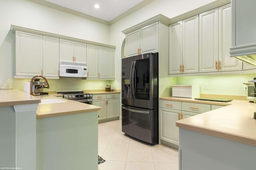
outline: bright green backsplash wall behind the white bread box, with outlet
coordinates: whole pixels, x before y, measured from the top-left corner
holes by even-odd
[[[244,82],[253,80],[256,73],[214,76],[182,76],[177,77],[177,84],[198,84],[202,94],[227,94],[246,96]],[[204,83],[208,83],[208,90],[204,90]]]

